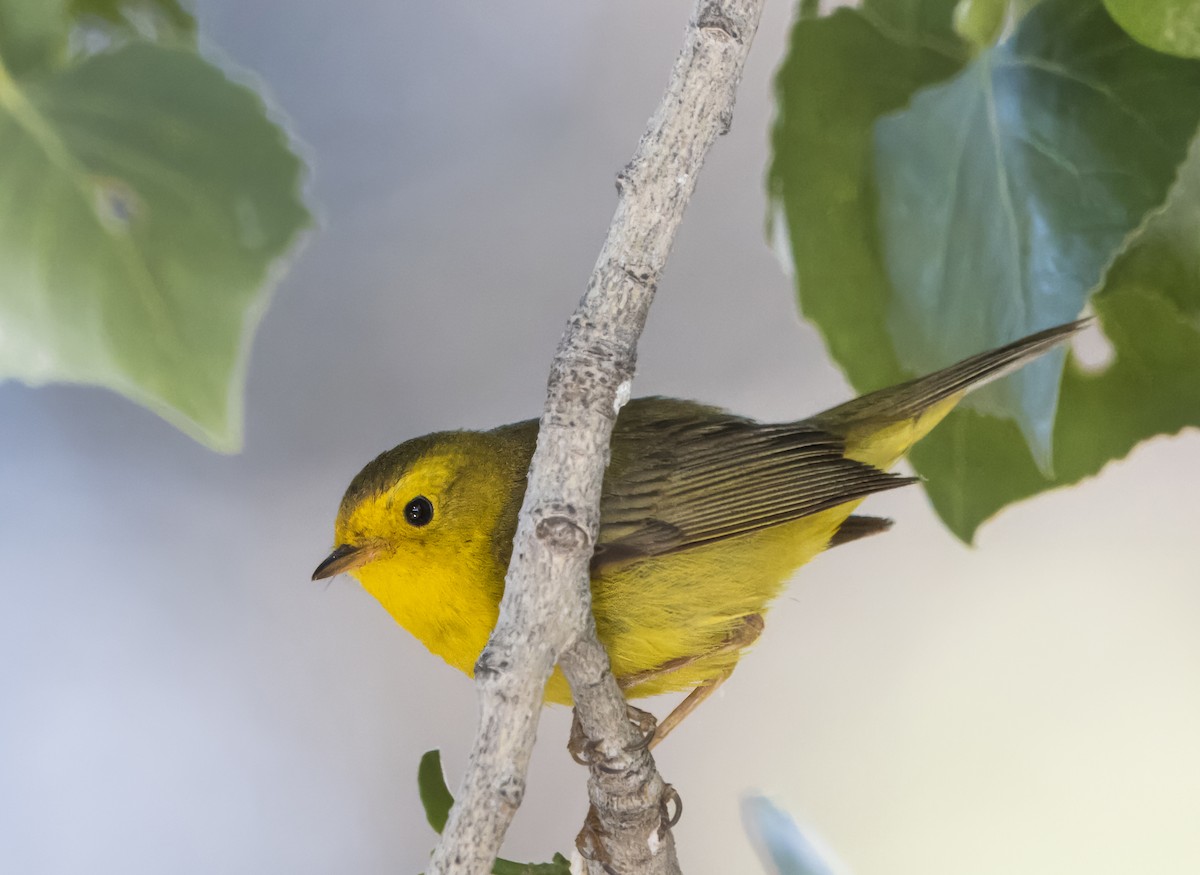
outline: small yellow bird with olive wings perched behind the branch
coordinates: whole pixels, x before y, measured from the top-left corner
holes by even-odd
[[[592,597],[630,697],[719,681],[797,568],[882,531],[851,517],[884,473],[976,385],[1069,337],[1032,335],[808,420],[763,425],[686,401],[638,398],[613,430]],[[442,432],[384,453],[342,499],[313,577],[353,574],[402,627],[468,675],[499,613],[536,422]],[[656,673],[655,670],[659,670]],[[632,681],[634,676],[641,677]],[[546,700],[569,703],[559,672]]]

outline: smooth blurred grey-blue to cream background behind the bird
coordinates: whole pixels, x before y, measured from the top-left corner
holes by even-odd
[[[312,583],[350,477],[536,415],[688,0],[197,0],[312,161],[316,232],[254,347],[246,449],[101,390],[0,386],[0,861],[13,873],[418,873],[470,682],[355,582]],[[848,389],[763,235],[768,6],[640,348],[638,394],[797,418]],[[215,49],[212,47],[220,47]],[[859,875],[1200,870],[1200,437],[1003,513],[922,492],[805,568],[659,756],[685,871],[761,868],[769,793]],[[650,702],[660,715],[673,701]],[[570,851],[584,772],[542,720],[505,856]]]

